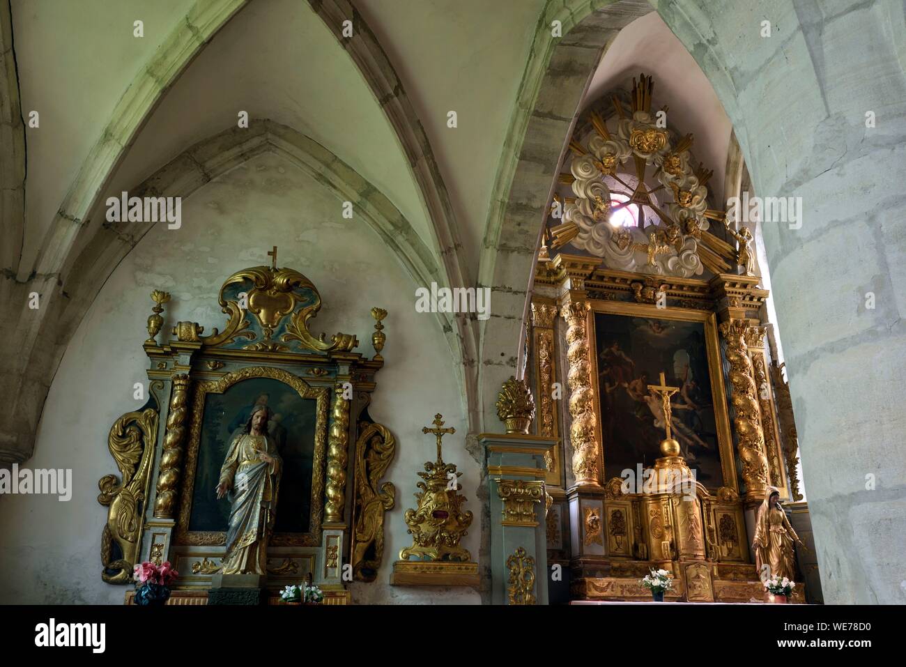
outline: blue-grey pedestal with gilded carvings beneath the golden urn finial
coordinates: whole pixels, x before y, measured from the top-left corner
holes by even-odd
[[[547,604],[545,452],[556,440],[485,433],[491,513],[491,601]]]

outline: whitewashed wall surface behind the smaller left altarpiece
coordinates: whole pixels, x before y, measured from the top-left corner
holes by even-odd
[[[425,603],[438,589],[390,586],[390,568],[410,545],[403,512],[414,507],[416,471],[433,459],[434,439],[421,433],[442,412],[455,436],[445,438],[444,458],[464,473],[463,493],[476,515],[464,545],[477,556],[480,511],[478,466],[463,447],[462,414],[448,343],[432,314],[415,312],[415,285],[381,240],[361,221],[341,216],[341,202],[287,161],[265,154],[215,179],[183,202],[182,227],[153,229],[101,289],[72,337],[38,429],[29,468],[71,468],[72,499],[0,497],[0,603],[121,604],[124,586],[101,581],[101,530],[107,508],[97,502],[98,479],[116,472],[107,434],[120,414],[143,401],[133,383],[146,382],[145,320],[152,289],[172,294],[158,339],[178,320],[210,332],[225,315],[217,291],[227,275],[267,264],[279,247],[279,266],[292,266],[317,285],[323,308],[315,333],[355,333],[359,351],[371,356],[371,306],[389,311],[384,321],[385,366],[371,417],[396,436],[388,478],[397,488],[390,511],[384,562],[373,584],[352,586],[361,603]],[[477,603],[471,589],[444,591],[444,602]]]

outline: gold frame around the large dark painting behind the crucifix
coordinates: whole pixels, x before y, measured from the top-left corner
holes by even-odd
[[[722,365],[720,362],[720,344],[718,342],[717,315],[708,311],[686,308],[658,308],[654,304],[632,304],[619,301],[600,301],[590,299],[591,308],[586,315],[586,331],[588,332],[589,363],[592,368],[592,389],[594,392],[595,438],[601,452],[601,471],[604,474],[603,458],[606,456],[607,443],[602,436],[601,393],[598,387],[598,355],[597,335],[595,331],[594,314],[616,314],[627,317],[646,317],[659,320],[676,320],[679,322],[700,322],[705,325],[705,349],[708,354],[708,377],[711,381],[711,398],[714,401],[714,416],[718,426],[718,452],[720,455],[720,469],[724,476],[723,487],[732,488],[737,493],[736,459],[733,453],[733,438],[730,434],[730,422],[727,409],[727,391],[724,386]],[[717,494],[720,487],[708,488],[712,494]]]

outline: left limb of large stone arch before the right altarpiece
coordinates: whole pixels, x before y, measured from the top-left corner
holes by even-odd
[[[549,2],[519,87],[516,110],[497,169],[479,285],[495,304],[481,331],[480,395],[485,428],[496,424],[500,385],[522,369],[532,266],[546,208],[576,113],[605,45],[624,26],[654,11],[647,0]],[[554,37],[554,22],[562,37]]]

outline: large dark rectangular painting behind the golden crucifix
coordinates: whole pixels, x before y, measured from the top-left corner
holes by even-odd
[[[680,454],[699,482],[722,486],[705,323],[595,313],[594,339],[605,478],[639,463],[648,468],[663,456],[664,411],[649,390],[661,384],[663,373],[667,385],[679,390],[670,399],[670,421]]]

